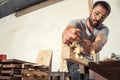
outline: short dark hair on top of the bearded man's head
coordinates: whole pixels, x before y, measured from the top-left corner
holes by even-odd
[[[93,5],[93,8],[95,8],[98,5],[103,6],[108,11],[108,15],[110,14],[111,7],[106,1],[97,1],[97,2],[95,2],[94,5]]]

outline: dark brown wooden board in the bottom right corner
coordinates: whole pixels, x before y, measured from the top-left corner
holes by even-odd
[[[89,68],[108,80],[120,80],[120,61],[89,62]]]

